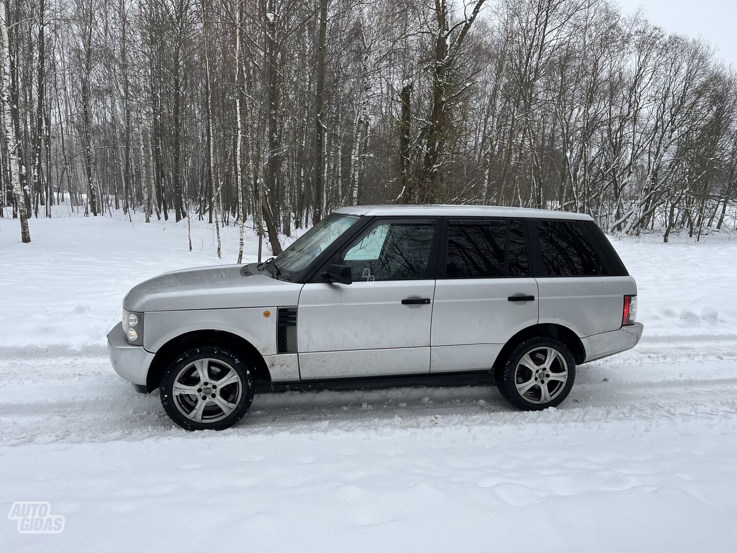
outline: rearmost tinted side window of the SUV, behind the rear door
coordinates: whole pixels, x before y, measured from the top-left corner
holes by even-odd
[[[607,274],[577,221],[539,220],[537,235],[547,277],[597,277]]]

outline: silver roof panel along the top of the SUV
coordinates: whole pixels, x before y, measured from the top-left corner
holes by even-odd
[[[447,204],[348,206],[335,209],[335,213],[346,215],[393,215],[393,216],[447,216],[447,217],[515,217],[534,219],[592,220],[584,213],[553,211],[552,209],[528,209],[506,206],[453,206]]]

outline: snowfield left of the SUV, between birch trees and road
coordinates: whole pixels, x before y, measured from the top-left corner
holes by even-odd
[[[191,252],[186,220],[146,224],[136,217],[130,223],[120,212],[116,218],[33,219],[30,225],[32,242],[24,245],[18,221],[0,219],[0,289],[14,291],[13,302],[0,304],[0,353],[105,352],[105,335],[120,319],[122,298],[138,282],[164,271],[237,260],[235,226],[222,229],[218,260],[214,226],[198,220],[192,221]],[[252,229],[244,242],[243,262],[256,261]],[[266,259],[268,240],[263,248]]]

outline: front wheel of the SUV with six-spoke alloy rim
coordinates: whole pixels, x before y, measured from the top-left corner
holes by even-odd
[[[223,430],[242,419],[254,400],[248,363],[214,346],[187,350],[161,376],[161,405],[186,430]]]

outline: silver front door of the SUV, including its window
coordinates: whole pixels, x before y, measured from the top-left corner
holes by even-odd
[[[298,305],[302,380],[430,371],[435,220],[380,219],[343,249],[350,285],[308,282]]]

